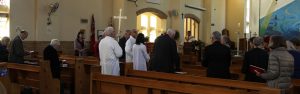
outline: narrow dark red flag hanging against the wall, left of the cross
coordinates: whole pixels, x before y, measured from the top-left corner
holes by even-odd
[[[94,14],[92,15],[92,20],[91,20],[91,36],[90,36],[90,49],[91,49],[91,54],[95,56],[97,48],[95,48],[96,40],[95,40],[95,19],[94,19]]]

